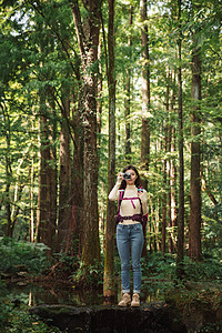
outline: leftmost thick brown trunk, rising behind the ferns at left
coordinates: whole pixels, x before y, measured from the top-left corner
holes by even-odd
[[[49,101],[51,102],[51,101]],[[53,141],[56,139],[56,121],[53,109],[48,108],[46,103],[46,91],[40,91],[40,111],[39,120],[39,193],[37,211],[37,236],[36,242],[40,241],[53,250],[57,221],[57,168],[56,149]],[[46,117],[51,117],[50,121]]]

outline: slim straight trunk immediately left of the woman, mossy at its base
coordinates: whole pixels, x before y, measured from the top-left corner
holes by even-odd
[[[115,181],[115,74],[114,74],[114,0],[109,0],[108,31],[108,87],[109,87],[109,164],[108,194]],[[114,255],[114,202],[108,200],[105,221],[104,283],[103,295],[114,295],[113,255]]]

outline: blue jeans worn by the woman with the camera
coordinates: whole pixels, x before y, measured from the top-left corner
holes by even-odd
[[[140,293],[141,268],[140,258],[143,246],[142,224],[118,224],[117,244],[121,261],[122,292],[130,292],[130,244],[133,271],[133,293]]]

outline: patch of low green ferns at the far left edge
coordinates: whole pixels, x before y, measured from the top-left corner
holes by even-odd
[[[49,265],[47,250],[48,248],[41,243],[30,244],[3,238],[0,240],[0,271],[14,273],[18,265],[23,265],[30,274],[38,274]]]

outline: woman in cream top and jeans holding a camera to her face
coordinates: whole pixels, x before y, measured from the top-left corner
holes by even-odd
[[[124,168],[109,194],[119,200],[117,244],[121,260],[122,297],[119,306],[140,306],[141,268],[143,246],[142,215],[148,213],[148,193],[139,188],[140,175],[133,165]],[[130,245],[133,270],[133,296],[130,297]]]

